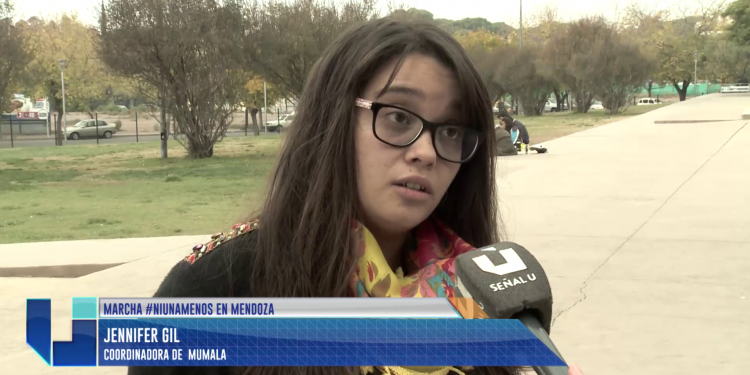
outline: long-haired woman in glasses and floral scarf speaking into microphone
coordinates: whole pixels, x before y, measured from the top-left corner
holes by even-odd
[[[381,19],[345,33],[314,66],[294,122],[261,214],[196,246],[156,297],[446,296],[453,257],[472,249],[468,244],[499,240],[490,100],[461,47],[441,29]],[[422,373],[409,371],[129,373]],[[424,373],[448,371],[517,373]]]

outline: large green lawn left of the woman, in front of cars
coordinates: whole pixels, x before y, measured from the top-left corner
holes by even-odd
[[[257,207],[281,138],[192,160],[170,142],[0,150],[0,243],[206,234]]]

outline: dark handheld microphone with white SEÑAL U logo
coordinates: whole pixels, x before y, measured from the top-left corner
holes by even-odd
[[[456,257],[459,297],[473,299],[490,319],[518,319],[560,359],[549,337],[552,288],[542,265],[521,245],[500,242]],[[568,375],[567,366],[533,366],[539,375]]]

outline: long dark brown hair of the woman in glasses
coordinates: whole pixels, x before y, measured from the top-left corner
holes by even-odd
[[[260,214],[254,297],[347,297],[354,272],[349,221],[361,219],[357,196],[354,100],[375,72],[410,53],[434,57],[459,82],[466,124],[486,134],[461,166],[434,215],[474,246],[500,237],[495,139],[490,98],[461,46],[429,23],[390,18],[358,25],[330,45],[312,69],[286,136]],[[391,79],[396,71],[392,73]],[[513,369],[476,369],[509,374]],[[246,374],[359,374],[358,368],[249,368]]]

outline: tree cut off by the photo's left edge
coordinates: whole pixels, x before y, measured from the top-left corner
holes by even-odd
[[[0,3],[0,114],[13,96],[13,89],[21,81],[21,73],[31,60],[31,52],[24,48],[26,36],[13,24],[13,5],[9,0]]]

